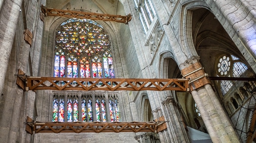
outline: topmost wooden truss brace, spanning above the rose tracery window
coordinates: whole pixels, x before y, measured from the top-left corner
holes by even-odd
[[[70,10],[46,8],[43,5],[41,5],[41,11],[45,16],[86,18],[86,19],[92,19],[92,20],[115,21],[115,22],[125,23],[125,24],[128,24],[128,22],[131,21],[131,19],[132,19],[131,14],[129,14],[127,16],[97,14],[97,13],[88,13],[88,12],[83,12],[83,11],[70,11]]]

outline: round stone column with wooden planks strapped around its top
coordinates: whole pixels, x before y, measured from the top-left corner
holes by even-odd
[[[213,143],[239,143],[231,121],[198,60],[198,57],[192,57],[181,64],[180,68],[183,77],[190,79],[191,94],[197,103],[208,133]]]

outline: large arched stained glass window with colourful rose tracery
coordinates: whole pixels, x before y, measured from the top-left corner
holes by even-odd
[[[103,57],[106,56],[111,58],[111,64],[107,63],[106,66],[111,68],[103,64]],[[54,77],[115,77],[108,34],[101,25],[90,19],[71,18],[59,26],[56,32]]]

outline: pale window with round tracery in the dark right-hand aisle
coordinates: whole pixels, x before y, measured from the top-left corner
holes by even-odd
[[[218,59],[217,77],[241,77],[248,67],[234,55],[223,55]],[[236,81],[220,80],[220,91],[226,95]]]

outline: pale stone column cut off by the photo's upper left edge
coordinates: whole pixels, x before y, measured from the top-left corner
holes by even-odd
[[[2,93],[5,74],[7,70],[6,63],[9,62],[14,35],[17,28],[18,17],[20,15],[20,5],[22,0],[5,0],[0,12],[0,94]]]

